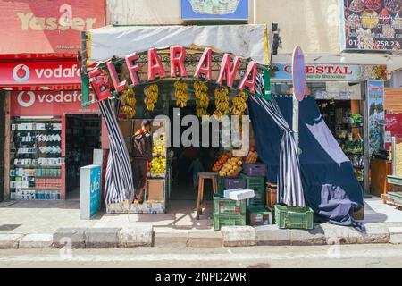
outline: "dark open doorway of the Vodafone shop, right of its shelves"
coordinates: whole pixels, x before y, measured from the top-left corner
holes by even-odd
[[[100,114],[66,114],[66,199],[80,198],[80,168],[93,164],[94,149],[101,147]]]

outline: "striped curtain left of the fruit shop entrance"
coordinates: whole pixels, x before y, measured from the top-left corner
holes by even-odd
[[[106,204],[122,203],[134,198],[130,156],[118,123],[121,101],[106,99],[98,102],[109,135],[109,157],[105,174]]]

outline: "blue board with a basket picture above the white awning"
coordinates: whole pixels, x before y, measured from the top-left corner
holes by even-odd
[[[180,0],[181,20],[248,21],[248,0]]]

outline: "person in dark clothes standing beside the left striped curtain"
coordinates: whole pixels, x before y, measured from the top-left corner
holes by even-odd
[[[132,174],[135,189],[134,200],[144,201],[147,185],[147,172],[152,161],[151,122],[144,120],[142,126],[132,137]]]

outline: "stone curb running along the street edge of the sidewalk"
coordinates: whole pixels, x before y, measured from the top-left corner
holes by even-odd
[[[366,223],[366,233],[330,223],[313,230],[279,229],[277,225],[222,227],[221,231],[154,231],[128,228],[59,228],[54,233],[0,234],[0,249],[16,248],[221,248],[402,243],[402,223]]]

